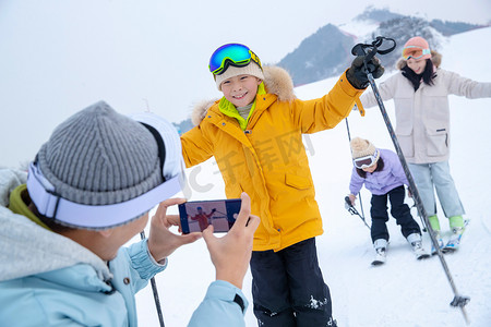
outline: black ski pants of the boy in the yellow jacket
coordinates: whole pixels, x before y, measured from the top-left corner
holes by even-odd
[[[259,326],[336,326],[314,238],[278,252],[253,251],[251,272]]]

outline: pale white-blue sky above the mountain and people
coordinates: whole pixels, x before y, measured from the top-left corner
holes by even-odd
[[[23,132],[29,155],[67,117],[104,99],[179,122],[220,96],[207,71],[225,43],[275,63],[327,23],[374,1],[0,0],[0,137]],[[431,3],[431,5],[430,5]],[[490,0],[382,0],[378,8],[428,19],[491,22]],[[0,144],[0,165],[8,148]],[[15,161],[16,162],[16,161]]]

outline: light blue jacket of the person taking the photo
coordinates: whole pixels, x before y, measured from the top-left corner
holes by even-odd
[[[106,264],[7,208],[22,183],[25,173],[0,169],[0,325],[136,326],[134,294],[165,269],[148,254],[147,242],[120,249]],[[213,282],[189,326],[244,326],[236,294],[247,307],[238,288]]]

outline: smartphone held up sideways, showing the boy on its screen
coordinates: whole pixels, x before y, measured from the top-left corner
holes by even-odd
[[[240,211],[240,198],[190,201],[179,205],[182,233],[200,232],[213,225],[215,232],[228,232]]]

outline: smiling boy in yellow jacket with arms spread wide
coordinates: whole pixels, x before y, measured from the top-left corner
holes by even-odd
[[[227,44],[211,57],[224,97],[194,109],[182,154],[187,167],[214,156],[227,197],[247,192],[261,217],[251,259],[260,326],[336,326],[318,263],[322,218],[302,134],[333,129],[349,114],[368,86],[362,61],[355,59],[328,94],[302,101],[288,73],[263,68],[247,46]],[[372,61],[380,77],[383,66]]]

